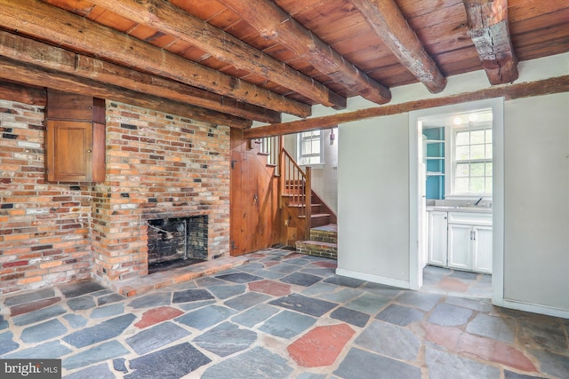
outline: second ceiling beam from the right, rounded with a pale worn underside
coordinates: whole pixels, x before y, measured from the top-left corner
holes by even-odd
[[[431,93],[439,93],[446,86],[445,75],[425,51],[421,40],[409,26],[405,16],[393,0],[351,0],[359,12],[401,64]]]

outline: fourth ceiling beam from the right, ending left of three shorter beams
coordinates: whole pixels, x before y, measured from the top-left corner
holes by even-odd
[[[164,0],[91,0],[91,3],[125,19],[180,38],[212,54],[215,59],[298,92],[317,104],[336,109],[346,107],[346,98],[324,84]]]

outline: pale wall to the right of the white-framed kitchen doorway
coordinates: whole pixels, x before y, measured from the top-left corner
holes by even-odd
[[[504,107],[504,299],[569,311],[569,93]]]

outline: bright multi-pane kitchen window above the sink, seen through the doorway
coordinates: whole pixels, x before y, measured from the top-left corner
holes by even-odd
[[[492,194],[492,126],[453,129],[453,195]]]

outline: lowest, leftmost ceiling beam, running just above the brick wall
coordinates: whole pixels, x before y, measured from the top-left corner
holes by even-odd
[[[194,107],[170,99],[158,98],[141,92],[125,90],[107,83],[98,83],[75,75],[45,70],[20,61],[0,57],[0,79],[18,78],[18,82],[32,86],[43,85],[55,90],[78,93],[100,99],[120,101],[136,107],[153,109],[166,114],[176,114],[194,120],[244,129],[252,125],[250,120],[222,114],[203,107]]]

